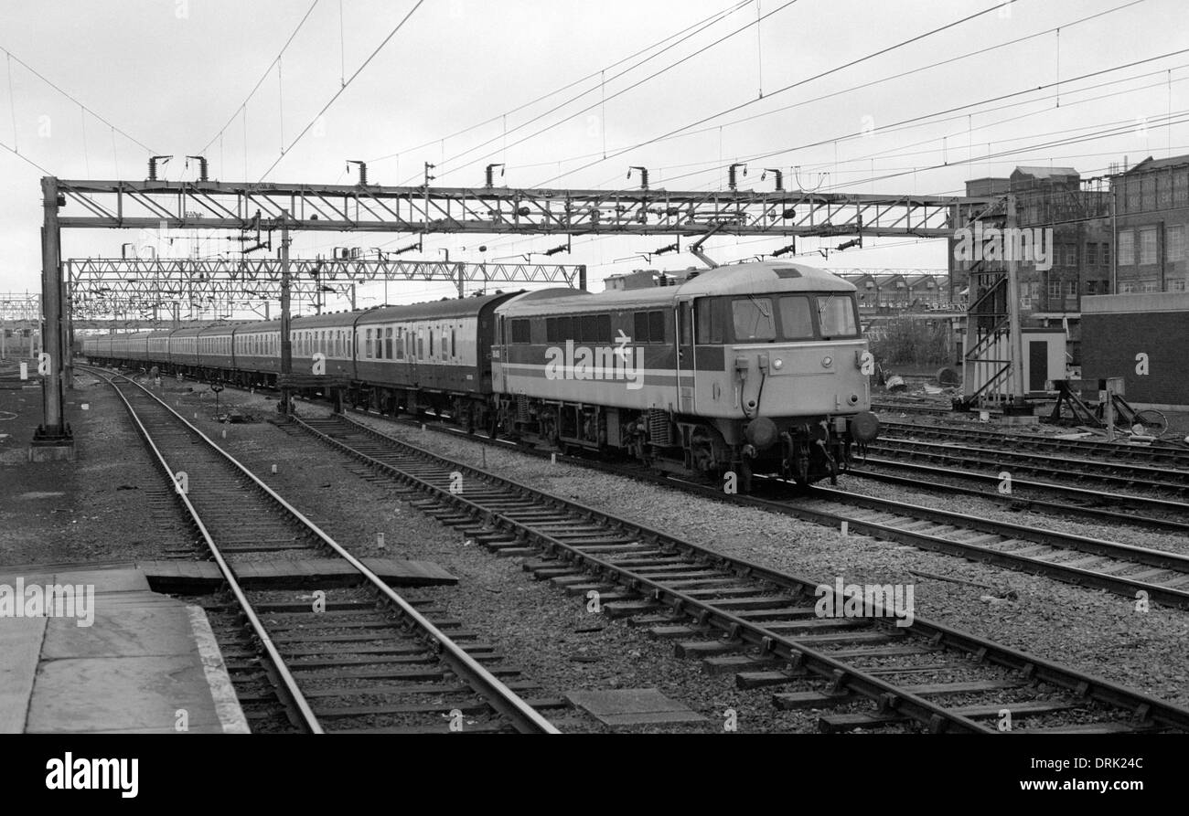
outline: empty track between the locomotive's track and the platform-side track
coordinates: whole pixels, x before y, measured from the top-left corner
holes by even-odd
[[[524,556],[537,578],[610,615],[652,626],[707,670],[774,688],[782,708],[838,711],[822,717],[825,730],[898,723],[989,733],[1005,721],[1024,732],[1189,730],[1189,710],[916,615],[892,620],[894,602],[889,611],[872,597],[860,614],[823,614],[814,599],[843,608],[831,583],[723,556],[344,416],[295,422],[423,493],[417,506],[441,523]]]

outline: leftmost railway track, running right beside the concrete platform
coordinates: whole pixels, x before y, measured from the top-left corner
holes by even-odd
[[[457,621],[394,592],[150,391],[122,375],[95,375],[124,401],[222,573],[231,603],[214,609],[213,622],[250,631],[252,647],[228,652],[250,719],[279,701],[308,733],[445,732],[443,717],[460,715],[465,730],[556,733],[536,708],[564,701],[527,702],[509,683],[531,683],[501,668],[492,646],[473,633],[447,634]],[[358,582],[328,587],[321,597],[245,588],[243,575],[260,561],[312,555],[346,562]]]

